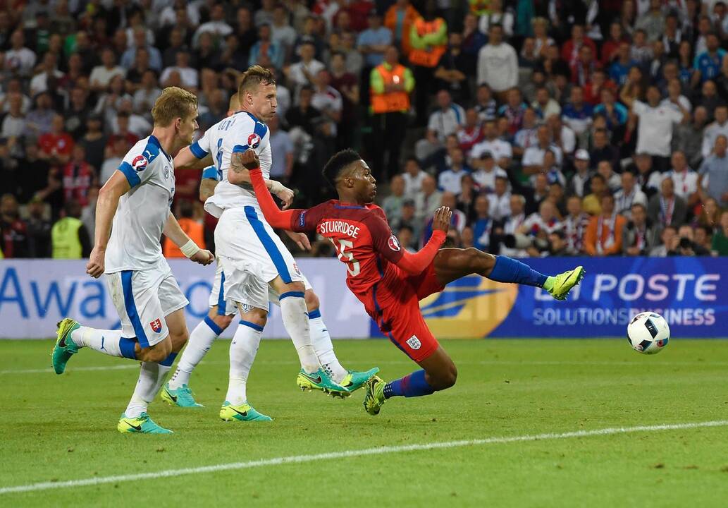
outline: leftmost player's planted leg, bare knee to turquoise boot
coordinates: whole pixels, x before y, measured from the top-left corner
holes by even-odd
[[[142,351],[142,356],[146,356],[146,361],[141,364],[139,380],[134,387],[132,398],[116,425],[116,429],[124,434],[172,433],[169,429],[154,423],[147,414],[149,404],[165,383],[165,378],[167,378],[167,374],[172,368],[177,353],[181,351],[189,337],[182,309],[175,310],[165,316],[165,321],[167,329],[169,329],[169,335],[161,343],[151,348],[145,348]]]

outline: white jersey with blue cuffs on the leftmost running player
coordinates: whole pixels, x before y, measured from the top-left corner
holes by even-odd
[[[119,198],[106,246],[106,273],[150,270],[165,264],[162,230],[175,195],[172,157],[149,136],[137,141],[119,165],[131,189]]]

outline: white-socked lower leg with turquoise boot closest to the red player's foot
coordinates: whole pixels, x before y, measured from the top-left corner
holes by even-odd
[[[331,376],[331,379],[347,388],[346,391],[331,390],[331,396],[341,399],[351,396],[352,392],[364,386],[368,380],[379,372],[379,367],[373,367],[373,369],[365,372],[345,369],[333,351],[331,335],[329,335],[321,317],[320,303],[316,293],[312,289],[307,289],[304,299],[306,300],[306,309],[309,311],[309,329],[316,356],[321,366]]]

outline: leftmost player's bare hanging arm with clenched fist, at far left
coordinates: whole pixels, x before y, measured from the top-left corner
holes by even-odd
[[[108,236],[111,234],[111,222],[114,220],[116,207],[119,206],[119,198],[129,192],[129,189],[131,189],[131,184],[128,177],[117,169],[98,191],[94,246],[86,265],[86,273],[93,278],[99,278],[103,273],[106,244]]]

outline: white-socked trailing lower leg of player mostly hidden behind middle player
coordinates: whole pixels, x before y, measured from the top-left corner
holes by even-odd
[[[205,319],[192,330],[187,346],[177,363],[177,369],[162,389],[162,399],[168,404],[178,407],[204,407],[194,399],[189,387],[189,378],[197,364],[205,358],[207,351],[210,351],[215,339],[229,327],[232,319],[232,315],[218,314],[218,306],[214,305]]]

